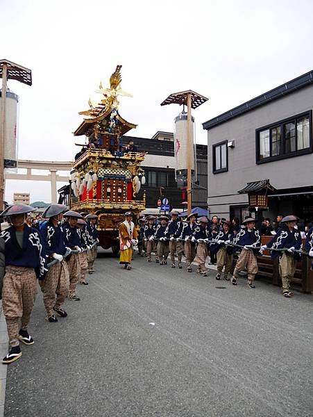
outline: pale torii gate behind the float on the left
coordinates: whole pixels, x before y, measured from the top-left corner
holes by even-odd
[[[24,179],[31,181],[50,181],[51,183],[51,203],[57,202],[56,183],[69,182],[69,177],[58,175],[58,171],[70,171],[73,167],[71,161],[28,161],[20,159],[17,163],[18,168],[26,169],[26,174],[6,173],[6,179]],[[49,175],[32,174],[31,170],[48,170]]]

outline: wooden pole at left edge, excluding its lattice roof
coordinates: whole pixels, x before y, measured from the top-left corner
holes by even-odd
[[[6,136],[6,81],[8,66],[2,67],[1,117],[0,117],[0,211],[3,211],[4,199],[4,138]]]

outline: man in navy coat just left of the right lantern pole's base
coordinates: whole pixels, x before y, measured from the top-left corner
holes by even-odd
[[[178,218],[178,211],[171,211],[171,220],[167,224],[166,236],[169,238],[169,254],[171,256],[171,268],[176,268],[175,254],[178,258],[178,268],[182,269],[182,256],[184,252],[183,243],[176,240],[180,237],[183,231],[183,222]]]

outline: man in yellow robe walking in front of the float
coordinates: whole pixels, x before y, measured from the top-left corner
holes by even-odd
[[[119,226],[119,263],[124,265],[125,270],[131,270],[131,259],[133,256],[133,245],[137,245],[137,230],[132,222],[133,213],[126,211],[125,221]]]

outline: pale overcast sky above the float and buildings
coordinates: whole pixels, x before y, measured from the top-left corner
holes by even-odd
[[[0,15],[0,59],[33,72],[31,87],[8,83],[21,159],[73,159],[78,111],[117,64],[129,135],[173,131],[181,108],[160,103],[191,89],[209,97],[194,112],[198,143],[206,120],[313,68],[312,0],[0,0]],[[14,191],[51,199],[49,183],[7,181],[8,202]]]

